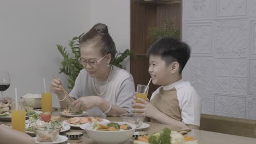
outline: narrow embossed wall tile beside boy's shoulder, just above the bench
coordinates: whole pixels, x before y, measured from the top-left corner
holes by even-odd
[[[214,105],[215,105],[214,95],[200,94],[200,96],[201,96],[201,103],[202,103],[201,112],[214,115]]]

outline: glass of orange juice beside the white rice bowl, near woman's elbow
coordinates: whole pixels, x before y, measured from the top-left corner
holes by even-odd
[[[52,110],[53,110],[53,93],[49,91],[49,88],[46,88],[45,85],[43,85],[42,86],[42,111],[51,112]]]

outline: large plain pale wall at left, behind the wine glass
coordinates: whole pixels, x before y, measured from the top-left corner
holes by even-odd
[[[59,75],[62,56],[56,44],[66,45],[68,40],[87,31],[88,1],[68,0],[2,0],[0,3],[0,69],[9,71],[11,85],[5,96],[40,93],[43,77],[50,83]],[[54,98],[54,105],[59,103]]]

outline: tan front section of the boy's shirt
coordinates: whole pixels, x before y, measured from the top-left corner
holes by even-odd
[[[167,91],[161,87],[159,93],[150,100],[150,104],[153,104],[156,109],[165,113],[167,116],[177,121],[182,121],[181,109],[179,109],[179,101],[175,87]],[[159,123],[153,118],[150,118],[150,122]]]

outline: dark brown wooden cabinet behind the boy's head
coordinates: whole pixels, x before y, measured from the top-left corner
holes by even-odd
[[[182,2],[177,0],[131,0],[131,74],[137,84],[147,85],[150,79],[148,73],[148,48],[156,39],[149,36],[149,27],[161,26],[165,19],[175,18],[176,26],[182,31]],[[181,32],[182,33],[182,32]],[[148,98],[159,86],[152,83],[149,86]]]

